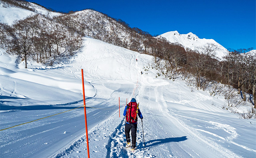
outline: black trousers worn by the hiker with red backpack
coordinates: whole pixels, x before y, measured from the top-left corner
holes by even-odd
[[[137,135],[137,124],[125,124],[125,136],[126,142],[131,142],[130,140],[130,131],[132,130],[132,147],[136,147],[136,135]]]

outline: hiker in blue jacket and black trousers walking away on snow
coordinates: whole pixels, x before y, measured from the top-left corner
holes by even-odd
[[[131,102],[128,103],[124,109],[124,117],[126,118],[125,124],[125,136],[126,136],[126,148],[131,147],[132,151],[136,148],[136,133],[137,133],[137,120],[138,116],[143,119],[142,113],[136,103],[136,99],[132,98]],[[130,140],[130,130],[132,130],[132,145]]]

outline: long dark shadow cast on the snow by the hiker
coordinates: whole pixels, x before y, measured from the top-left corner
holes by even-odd
[[[164,144],[168,142],[181,142],[187,139],[188,139],[187,136],[176,137],[176,138],[155,139],[155,140],[149,140],[145,144],[146,144],[146,147],[153,147],[159,144]]]

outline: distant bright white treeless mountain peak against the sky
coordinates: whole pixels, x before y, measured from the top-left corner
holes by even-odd
[[[185,48],[187,47],[192,50],[198,50],[198,48],[206,46],[207,43],[214,44],[216,46],[216,57],[220,58],[221,60],[228,52],[226,48],[214,41],[214,39],[200,39],[192,32],[188,34],[179,34],[178,31],[170,31],[160,36],[166,38],[172,43],[179,43]]]

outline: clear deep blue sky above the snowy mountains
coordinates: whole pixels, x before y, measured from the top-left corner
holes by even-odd
[[[255,0],[28,0],[56,11],[93,8],[151,35],[192,32],[226,48],[256,49]]]

